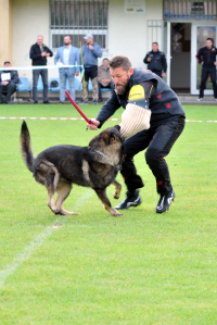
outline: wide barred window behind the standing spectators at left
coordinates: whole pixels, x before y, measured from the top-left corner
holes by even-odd
[[[107,50],[108,0],[50,0],[50,47],[56,50],[63,46],[65,35],[72,37],[72,45],[79,48],[84,36],[93,35],[102,50]]]

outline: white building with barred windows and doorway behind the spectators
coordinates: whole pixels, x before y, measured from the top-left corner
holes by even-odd
[[[217,1],[196,1],[0,0],[0,65],[11,60],[13,66],[30,66],[29,49],[38,35],[55,53],[64,35],[69,34],[79,47],[90,32],[103,57],[125,54],[133,67],[145,68],[143,59],[152,41],[157,41],[167,58],[167,84],[197,95],[201,66],[195,54],[207,37],[217,41]],[[48,61],[53,65],[53,58]],[[20,76],[31,82],[30,71],[21,71]],[[50,70],[52,76],[58,71]]]

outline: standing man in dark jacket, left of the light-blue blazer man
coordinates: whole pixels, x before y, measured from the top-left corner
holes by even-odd
[[[47,65],[47,58],[53,57],[53,52],[43,45],[43,36],[39,35],[37,42],[30,48],[31,65]],[[34,103],[38,103],[37,84],[39,75],[42,77],[43,83],[43,103],[48,104],[48,68],[33,70],[33,98]]]

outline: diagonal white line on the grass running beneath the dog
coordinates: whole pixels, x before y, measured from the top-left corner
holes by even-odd
[[[80,209],[85,205],[85,203],[92,196],[93,190],[87,188],[82,197],[77,200],[73,207],[73,211]],[[75,212],[75,211],[74,211]],[[20,252],[13,260],[13,262],[5,265],[3,270],[0,271],[0,288],[4,285],[7,278],[12,275],[26,260],[30,258],[30,255],[40,248],[43,242],[58,229],[61,228],[62,225],[67,223],[69,215],[61,215],[59,216],[53,225],[46,227],[39,235],[37,235],[28,246],[24,248],[22,252]]]

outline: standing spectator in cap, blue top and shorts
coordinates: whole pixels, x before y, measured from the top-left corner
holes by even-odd
[[[88,103],[88,80],[92,80],[92,103],[98,103],[98,58],[102,57],[101,47],[93,41],[92,34],[87,34],[85,45],[81,47],[84,67],[85,67],[85,87],[82,89],[82,101],[80,104]]]

